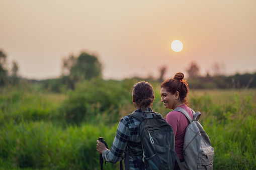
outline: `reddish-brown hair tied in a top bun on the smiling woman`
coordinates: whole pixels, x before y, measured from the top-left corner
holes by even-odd
[[[189,93],[189,86],[186,80],[184,79],[183,73],[176,73],[174,78],[167,79],[162,82],[160,88],[165,88],[167,92],[175,94],[176,91],[179,92],[180,101],[188,104],[187,95]]]

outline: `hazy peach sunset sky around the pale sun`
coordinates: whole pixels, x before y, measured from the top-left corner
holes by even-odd
[[[225,74],[256,72],[256,1],[0,0],[0,50],[26,78],[61,75],[62,59],[97,54],[106,79],[165,78],[196,62]],[[183,43],[181,52],[170,44]]]

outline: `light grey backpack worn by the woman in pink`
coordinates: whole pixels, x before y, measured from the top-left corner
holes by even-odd
[[[195,113],[193,109],[193,119],[182,107],[177,107],[173,111],[182,112],[190,121],[184,139],[183,154],[185,161],[180,162],[178,156],[176,160],[181,169],[213,169],[214,148],[202,125],[198,122],[200,112]]]

